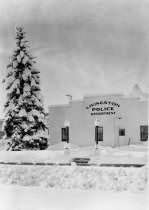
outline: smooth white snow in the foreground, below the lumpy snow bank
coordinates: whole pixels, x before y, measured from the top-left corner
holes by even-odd
[[[147,194],[0,185],[0,209],[147,210]]]

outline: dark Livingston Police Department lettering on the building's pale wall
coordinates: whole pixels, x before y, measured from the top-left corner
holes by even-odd
[[[116,113],[116,108],[120,105],[113,101],[99,101],[86,106],[86,109],[91,110],[91,115],[113,115]]]

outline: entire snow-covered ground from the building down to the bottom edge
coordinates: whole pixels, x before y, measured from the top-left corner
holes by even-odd
[[[2,144],[4,145],[4,144]],[[147,210],[148,146],[119,148],[71,147],[64,144],[46,151],[8,152],[1,147],[0,161],[70,163],[74,157],[89,157],[92,163],[140,163],[141,168],[101,166],[0,165],[0,209],[11,210]]]

